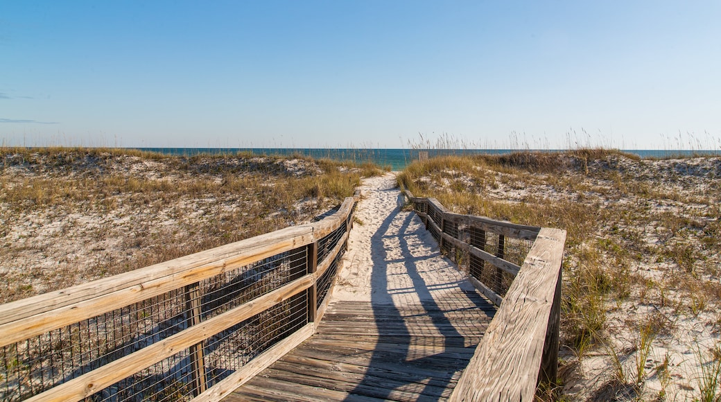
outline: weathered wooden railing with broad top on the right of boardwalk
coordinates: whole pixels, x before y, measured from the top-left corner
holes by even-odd
[[[451,401],[531,401],[557,377],[566,231],[451,213],[404,190],[441,246],[499,306]]]

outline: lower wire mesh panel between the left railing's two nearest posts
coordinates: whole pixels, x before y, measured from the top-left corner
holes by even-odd
[[[203,342],[208,386],[228,377],[308,322],[308,292],[301,292],[211,336]]]

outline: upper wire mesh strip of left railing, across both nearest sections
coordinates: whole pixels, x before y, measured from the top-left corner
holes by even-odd
[[[19,401],[306,274],[307,247],[0,348],[0,401]],[[195,306],[195,310],[193,310]]]

